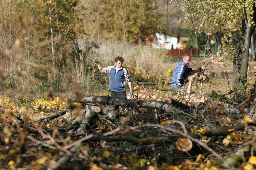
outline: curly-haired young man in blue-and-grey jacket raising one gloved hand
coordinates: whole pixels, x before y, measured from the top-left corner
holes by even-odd
[[[115,58],[114,61],[114,66],[108,66],[103,68],[99,63],[99,60],[94,60],[100,72],[109,74],[108,90],[111,92],[111,97],[126,99],[126,82],[130,88],[129,95],[133,95],[131,78],[127,69],[123,67],[123,57],[118,56]],[[118,109],[118,107],[116,109]]]

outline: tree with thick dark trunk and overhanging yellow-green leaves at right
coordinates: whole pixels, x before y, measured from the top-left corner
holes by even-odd
[[[222,47],[220,54],[231,54],[233,58],[233,89],[246,90],[248,52],[251,36],[255,30],[255,1],[254,0],[184,0],[180,7],[187,10],[187,19],[197,21],[199,31],[212,23],[212,30],[223,29]],[[230,40],[232,32],[239,28],[236,22],[242,21],[242,35],[237,44]],[[211,31],[209,31],[211,32]]]

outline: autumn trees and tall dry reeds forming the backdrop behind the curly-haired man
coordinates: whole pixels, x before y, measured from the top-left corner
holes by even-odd
[[[123,56],[134,81],[171,76],[167,51],[147,46],[144,35],[190,37],[190,48],[204,44],[206,36],[194,34],[191,25],[181,25],[177,18],[184,12],[167,4],[155,0],[3,0],[2,94],[105,91],[108,78],[93,65],[96,56],[103,66]],[[139,46],[133,46],[134,42]]]

